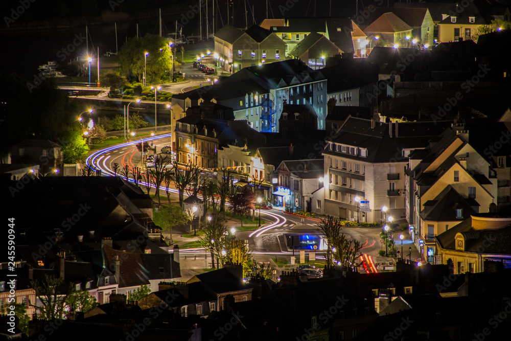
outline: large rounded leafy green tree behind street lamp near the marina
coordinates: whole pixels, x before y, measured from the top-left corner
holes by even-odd
[[[147,62],[145,53],[147,55]],[[165,78],[165,71],[171,68],[172,53],[165,37],[146,34],[144,37],[128,39],[119,52],[121,73],[128,79],[157,83]]]

